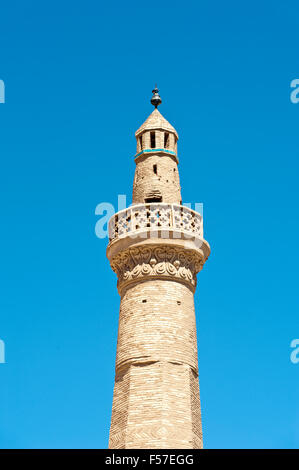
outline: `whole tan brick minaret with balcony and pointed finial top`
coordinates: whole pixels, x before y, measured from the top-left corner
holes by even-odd
[[[158,111],[137,130],[133,204],[109,221],[121,297],[109,448],[202,448],[194,293],[210,248],[182,206],[176,130]]]

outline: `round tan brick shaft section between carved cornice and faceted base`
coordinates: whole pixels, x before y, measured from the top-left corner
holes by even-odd
[[[155,280],[128,289],[121,299],[116,367],[169,361],[197,370],[193,294],[185,285]]]

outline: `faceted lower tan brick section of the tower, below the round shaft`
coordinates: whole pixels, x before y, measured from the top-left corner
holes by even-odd
[[[125,368],[116,376],[109,447],[202,448],[199,396],[196,407],[190,403],[194,380],[198,389],[185,364],[159,361]]]

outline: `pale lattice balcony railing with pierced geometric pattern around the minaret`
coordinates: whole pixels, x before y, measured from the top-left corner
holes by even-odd
[[[202,215],[178,204],[137,204],[111,217],[108,224],[110,242],[128,236],[157,232],[184,234],[187,237],[203,238]]]

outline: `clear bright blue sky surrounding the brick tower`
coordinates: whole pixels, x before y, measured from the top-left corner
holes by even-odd
[[[107,447],[119,296],[97,204],[134,132],[179,136],[212,253],[196,293],[206,448],[298,448],[295,0],[1,3],[1,448]]]

